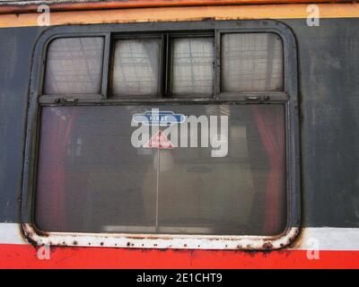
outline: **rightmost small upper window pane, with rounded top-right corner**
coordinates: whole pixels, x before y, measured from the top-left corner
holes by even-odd
[[[224,34],[222,91],[282,91],[283,44],[274,33]]]

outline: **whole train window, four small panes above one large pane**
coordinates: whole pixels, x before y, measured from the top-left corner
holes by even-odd
[[[36,230],[224,239],[292,226],[278,34],[95,35],[47,46],[31,150]]]

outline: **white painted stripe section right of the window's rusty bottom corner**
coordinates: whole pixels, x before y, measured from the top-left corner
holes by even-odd
[[[304,228],[300,241],[301,245],[293,249],[359,251],[359,228]]]

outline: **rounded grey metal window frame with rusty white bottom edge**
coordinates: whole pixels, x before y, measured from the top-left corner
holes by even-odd
[[[276,236],[215,236],[215,235],[169,235],[169,234],[129,234],[129,233],[74,233],[74,232],[45,232],[37,229],[34,222],[34,199],[37,178],[37,160],[39,143],[39,116],[41,106],[61,105],[126,105],[151,103],[223,103],[248,104],[248,93],[238,93],[236,97],[227,99],[221,93],[214,98],[205,99],[140,99],[121,100],[108,99],[103,91],[108,83],[107,75],[102,77],[106,81],[102,85],[102,94],[95,97],[88,96],[74,102],[56,102],[54,98],[46,100],[41,94],[43,65],[46,59],[46,48],[51,39],[58,37],[76,37],[85,35],[91,37],[102,35],[109,43],[109,33],[142,33],[173,30],[209,30],[216,33],[221,31],[236,32],[275,32],[284,43],[285,91],[250,93],[257,94],[259,104],[283,104],[285,106],[286,126],[286,186],[287,186],[287,225],[283,233]],[[118,248],[204,248],[204,249],[246,249],[270,250],[285,248],[290,245],[300,231],[301,224],[301,196],[300,196],[300,148],[299,148],[299,107],[297,85],[296,42],[292,31],[276,21],[219,21],[219,22],[158,22],[156,24],[103,24],[91,26],[63,26],[45,30],[37,40],[31,67],[31,87],[29,94],[29,110],[26,131],[26,146],[24,157],[24,172],[22,178],[22,211],[21,222],[24,236],[34,245],[56,246],[95,246]],[[109,62],[109,48],[104,58]],[[104,67],[103,73],[108,71]],[[219,69],[217,72],[217,76]],[[263,100],[263,95],[270,95],[270,100]]]

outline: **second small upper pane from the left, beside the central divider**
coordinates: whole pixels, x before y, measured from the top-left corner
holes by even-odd
[[[116,96],[159,93],[160,39],[116,41],[112,89]]]

